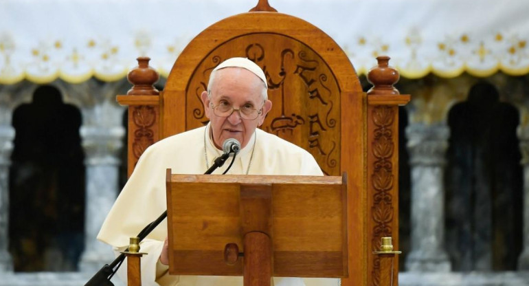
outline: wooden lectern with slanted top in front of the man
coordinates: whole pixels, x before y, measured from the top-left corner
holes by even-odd
[[[347,178],[172,175],[169,273],[347,277]],[[238,259],[238,256],[242,256]]]

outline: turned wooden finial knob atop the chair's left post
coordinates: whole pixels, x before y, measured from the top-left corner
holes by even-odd
[[[128,72],[127,79],[133,87],[127,91],[129,96],[156,96],[160,94],[154,84],[160,78],[158,72],[149,66],[150,58],[141,56],[137,58],[138,65]]]

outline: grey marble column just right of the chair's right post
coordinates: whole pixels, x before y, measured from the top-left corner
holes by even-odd
[[[412,251],[406,269],[449,272],[444,249],[444,163],[449,127],[412,124],[406,129],[412,173]]]

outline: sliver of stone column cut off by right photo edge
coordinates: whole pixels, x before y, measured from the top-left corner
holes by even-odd
[[[518,127],[521,165],[524,166],[524,232],[522,245],[524,249],[518,257],[518,270],[529,270],[529,126]]]

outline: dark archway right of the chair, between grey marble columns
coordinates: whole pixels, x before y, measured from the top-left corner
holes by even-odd
[[[449,112],[447,249],[455,271],[515,270],[521,252],[519,113],[477,83]]]

